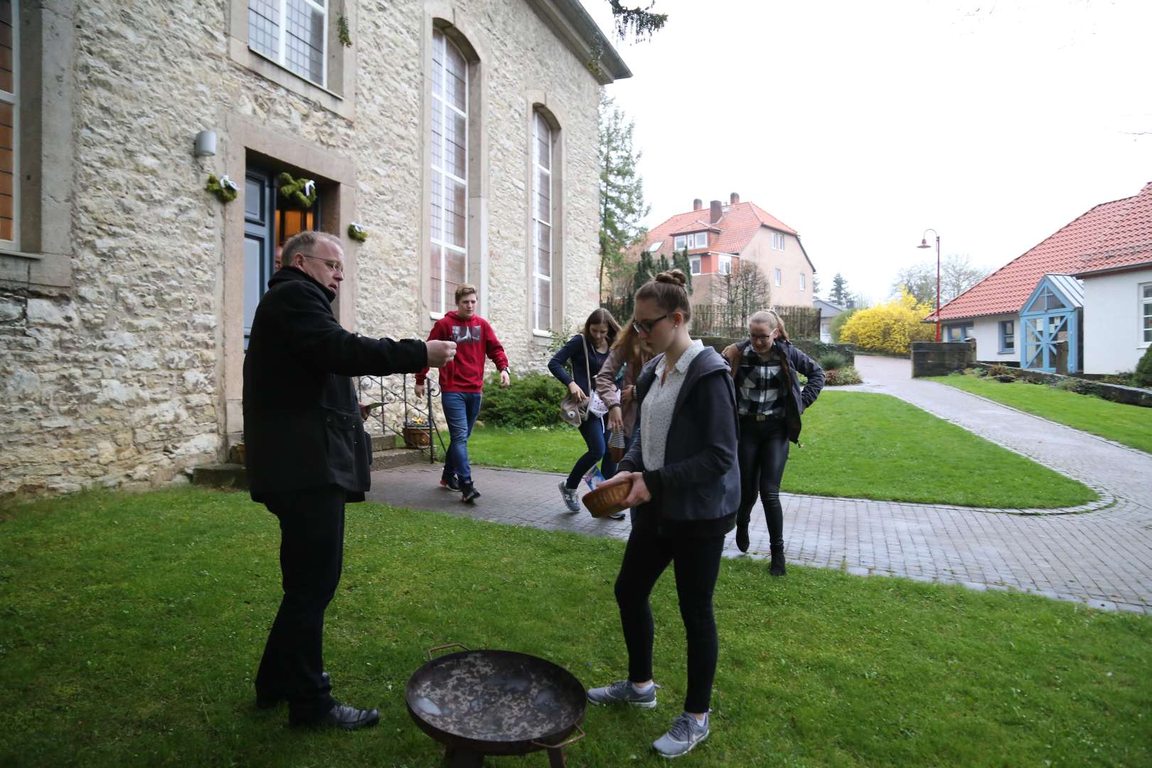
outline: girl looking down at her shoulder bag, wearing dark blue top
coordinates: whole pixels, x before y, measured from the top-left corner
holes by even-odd
[[[579,511],[579,500],[576,491],[579,488],[581,478],[584,473],[601,463],[604,477],[611,477],[616,472],[616,463],[611,456],[605,456],[611,435],[608,434],[608,423],[605,419],[607,406],[600,396],[597,395],[593,379],[608,359],[608,350],[620,333],[620,325],[615,318],[604,309],[596,310],[588,315],[584,321],[584,330],[573,336],[567,344],[548,360],[548,371],[560,383],[568,387],[569,397],[566,402],[575,400],[577,404],[586,403],[586,412],[583,423],[579,425],[581,436],[588,450],[573,465],[567,480],[560,481],[560,496],[563,499],[568,511]],[[570,365],[571,374],[564,368]],[[602,459],[602,462],[601,462]],[[622,515],[620,517],[623,517]]]

